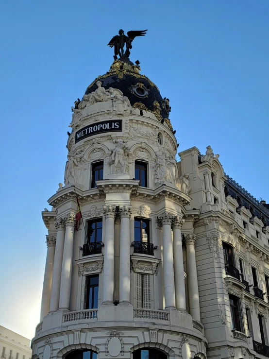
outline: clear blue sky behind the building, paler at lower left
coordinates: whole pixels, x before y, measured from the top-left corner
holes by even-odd
[[[70,106],[108,71],[125,30],[131,60],[170,99],[180,144],[211,145],[224,171],[269,202],[269,0],[0,2],[0,325],[31,338],[46,258],[41,210],[63,182]]]

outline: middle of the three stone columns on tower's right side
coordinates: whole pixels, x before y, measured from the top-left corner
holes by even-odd
[[[185,299],[185,277],[182,251],[181,228],[184,220],[175,216],[173,222],[173,252],[174,252],[174,275],[176,307],[179,310],[186,310]]]

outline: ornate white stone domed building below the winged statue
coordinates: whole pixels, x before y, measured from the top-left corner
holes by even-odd
[[[210,146],[176,162],[169,100],[139,71],[115,60],[72,109],[34,359],[269,357],[268,205]]]

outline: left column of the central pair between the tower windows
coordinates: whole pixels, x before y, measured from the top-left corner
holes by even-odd
[[[114,230],[116,207],[114,205],[106,205],[103,208],[105,216],[105,242],[102,304],[112,304],[114,299]]]

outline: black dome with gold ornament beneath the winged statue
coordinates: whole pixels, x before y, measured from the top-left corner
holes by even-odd
[[[105,89],[113,87],[122,91],[123,95],[128,97],[132,106],[134,103],[142,103],[149,111],[154,111],[156,110],[157,102],[161,117],[168,119],[169,109],[166,104],[167,102],[163,100],[158,87],[145,75],[140,75],[133,71],[107,72],[103,76],[98,76],[93,83],[87,87],[85,95],[97,89],[96,82],[98,80],[101,81],[102,87]],[[138,83],[140,84],[138,85]]]

